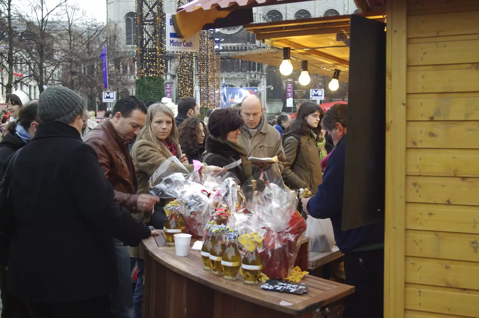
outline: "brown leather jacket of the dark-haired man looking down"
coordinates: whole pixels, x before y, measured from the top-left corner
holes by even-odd
[[[114,201],[135,212],[138,178],[123,136],[116,132],[111,121],[103,121],[83,137],[83,142],[95,150],[105,176],[114,188]]]

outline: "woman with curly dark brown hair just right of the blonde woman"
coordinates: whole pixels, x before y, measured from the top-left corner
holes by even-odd
[[[187,118],[178,127],[178,133],[181,150],[186,154],[188,163],[193,164],[193,160],[201,162],[205,138],[208,136],[205,123],[198,118]]]

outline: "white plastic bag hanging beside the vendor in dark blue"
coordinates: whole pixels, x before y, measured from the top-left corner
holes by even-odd
[[[306,237],[309,237],[309,252],[328,252],[334,247],[334,232],[331,219],[306,219]]]

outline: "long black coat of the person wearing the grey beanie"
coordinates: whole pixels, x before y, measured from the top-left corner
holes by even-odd
[[[136,246],[151,231],[114,203],[91,146],[59,122],[38,126],[13,165],[8,287],[23,300],[72,302],[118,285],[112,237]]]

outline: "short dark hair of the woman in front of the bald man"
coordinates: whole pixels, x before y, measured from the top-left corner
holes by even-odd
[[[210,135],[226,139],[228,132],[237,130],[244,124],[243,118],[229,108],[215,110],[208,120]]]

